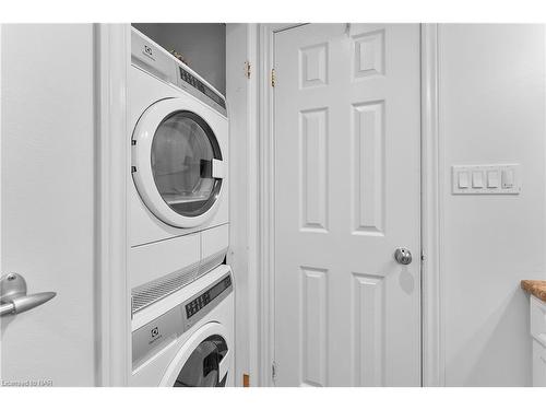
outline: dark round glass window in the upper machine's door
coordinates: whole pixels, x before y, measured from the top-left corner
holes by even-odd
[[[155,186],[167,206],[182,216],[199,216],[217,200],[222,178],[214,168],[222,152],[209,125],[181,110],[163,119],[151,149]]]

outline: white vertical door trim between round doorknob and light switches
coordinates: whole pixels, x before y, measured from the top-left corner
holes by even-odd
[[[441,292],[441,164],[438,24],[420,26],[422,383],[444,386]]]

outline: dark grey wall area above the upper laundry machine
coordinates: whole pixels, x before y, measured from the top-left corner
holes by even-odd
[[[167,50],[181,52],[193,70],[226,93],[226,25],[219,23],[133,23]]]

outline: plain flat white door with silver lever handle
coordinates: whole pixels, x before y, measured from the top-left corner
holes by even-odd
[[[22,274],[28,294],[57,293],[33,309],[0,317],[0,386],[93,386],[93,26],[0,30],[0,274]]]

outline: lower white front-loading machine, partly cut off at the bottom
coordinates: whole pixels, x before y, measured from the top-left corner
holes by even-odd
[[[234,386],[234,293],[222,265],[136,313],[131,386]]]

